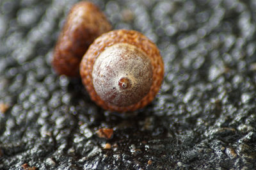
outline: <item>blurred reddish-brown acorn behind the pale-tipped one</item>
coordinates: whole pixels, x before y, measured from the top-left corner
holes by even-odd
[[[79,76],[79,64],[90,44],[110,30],[111,24],[95,4],[74,4],[54,49],[54,70],[60,75]]]

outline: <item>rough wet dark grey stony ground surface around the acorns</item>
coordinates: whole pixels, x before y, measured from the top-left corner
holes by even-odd
[[[159,46],[161,92],[128,116],[100,109],[79,79],[51,68],[76,1],[2,0],[0,169],[255,169],[255,1],[94,2],[115,29]]]

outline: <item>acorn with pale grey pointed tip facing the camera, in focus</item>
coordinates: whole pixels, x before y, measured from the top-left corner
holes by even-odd
[[[152,102],[163,81],[156,45],[138,31],[115,30],[99,36],[80,64],[90,97],[100,107],[135,111]]]

